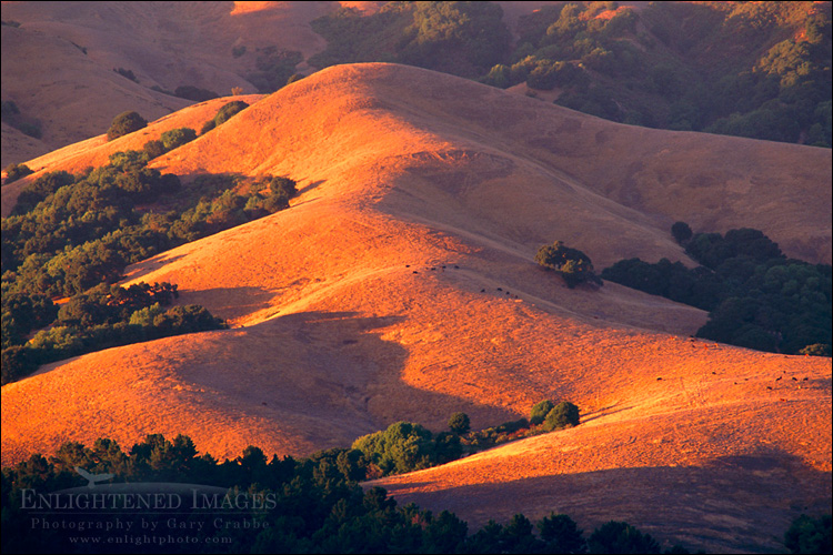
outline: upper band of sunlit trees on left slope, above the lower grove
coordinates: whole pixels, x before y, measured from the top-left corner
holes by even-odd
[[[145,167],[150,155],[193,137],[171,130],[144,151],[112,154],[107,167],[52,172],[27,185],[2,221],[3,292],[70,296],[118,281],[127,264],[288,208],[295,182],[287,178],[263,178],[239,194],[230,175],[182,188],[177,175]],[[148,203],[162,211],[141,208]]]

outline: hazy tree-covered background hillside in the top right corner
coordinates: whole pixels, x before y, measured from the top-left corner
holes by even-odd
[[[485,82],[559,87],[559,104],[625,123],[831,145],[830,6],[568,3],[519,29]]]

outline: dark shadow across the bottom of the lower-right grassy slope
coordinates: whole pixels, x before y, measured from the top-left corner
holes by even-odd
[[[566,456],[566,455],[565,455]],[[572,517],[584,536],[609,521],[651,534],[663,549],[692,553],[785,553],[784,532],[802,513],[830,513],[831,473],[776,450],[717,457],[703,466],[646,466],[556,474],[441,491],[409,483],[400,506],[455,513],[474,533],[488,519],[506,524],[516,513],[533,523],[551,512]],[[365,483],[364,487],[375,485]],[[384,485],[381,484],[383,487]]]

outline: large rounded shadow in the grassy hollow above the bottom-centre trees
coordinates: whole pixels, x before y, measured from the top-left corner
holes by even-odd
[[[461,407],[471,411],[472,404],[403,382],[409,352],[383,339],[384,330],[401,321],[354,312],[288,314],[214,332],[177,372],[210,391],[212,403],[264,418],[275,435],[318,448],[350,446],[397,421],[430,426],[439,420],[444,427],[451,414]],[[495,421],[503,417],[499,422],[514,416],[501,408],[474,410],[495,413]]]

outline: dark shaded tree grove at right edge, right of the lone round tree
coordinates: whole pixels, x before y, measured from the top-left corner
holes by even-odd
[[[831,353],[833,314],[829,264],[787,259],[753,229],[692,234],[684,222],[674,238],[701,266],[662,259],[616,262],[602,278],[710,311],[696,335],[732,345],[787,354]]]

